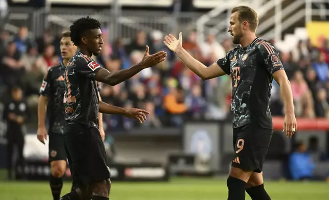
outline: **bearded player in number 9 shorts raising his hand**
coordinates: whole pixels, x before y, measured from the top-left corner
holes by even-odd
[[[273,45],[255,36],[258,19],[253,9],[233,8],[229,23],[232,41],[240,45],[209,67],[185,51],[181,33],[178,40],[169,35],[163,42],[202,80],[231,75],[234,159],[227,179],[228,199],[245,199],[247,191],[252,199],[268,200],[262,167],[273,132],[269,109],[272,80],[280,85],[287,137],[297,130],[290,82]]]

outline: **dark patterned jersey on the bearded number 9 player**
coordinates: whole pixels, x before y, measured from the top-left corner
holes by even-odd
[[[232,77],[233,128],[259,123],[273,129],[269,109],[272,74],[284,69],[274,46],[256,38],[247,47],[232,49],[217,64]]]

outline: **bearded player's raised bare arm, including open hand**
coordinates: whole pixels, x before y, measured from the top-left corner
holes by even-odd
[[[197,74],[202,80],[208,80],[215,77],[220,77],[227,72],[222,69],[222,65],[219,66],[217,62],[213,63],[209,67],[202,64],[197,59],[193,58],[183,47],[182,47],[182,34],[179,33],[179,39],[177,40],[173,35],[165,37],[163,41],[168,48],[175,52],[179,59],[189,67],[195,74]]]

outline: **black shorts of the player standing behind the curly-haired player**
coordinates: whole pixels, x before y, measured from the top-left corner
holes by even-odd
[[[58,133],[51,133],[49,132],[49,160],[48,162],[51,163],[52,161],[56,160],[65,160],[66,161],[66,152],[64,147],[64,135]]]

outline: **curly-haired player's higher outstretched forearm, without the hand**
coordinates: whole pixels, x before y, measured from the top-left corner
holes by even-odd
[[[131,77],[135,76],[136,73],[142,71],[144,67],[142,65],[134,65],[128,69],[122,69],[113,73],[110,73],[106,77],[106,84],[111,86],[117,85]]]

